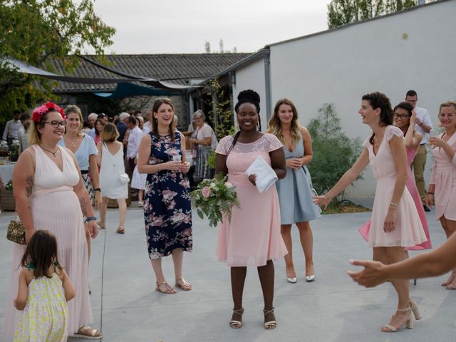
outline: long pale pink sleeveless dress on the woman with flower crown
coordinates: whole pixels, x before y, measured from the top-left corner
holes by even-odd
[[[68,302],[68,334],[73,335],[80,326],[93,321],[88,295],[88,251],[83,213],[73,186],[78,184],[79,175],[73,157],[63,147],[63,171],[41,150],[31,146],[36,155],[31,216],[36,230],[47,229],[56,235],[57,254],[66,273],[70,277],[75,297]],[[20,311],[13,306],[16,297],[21,259],[25,246],[14,244],[13,264],[9,298],[6,301],[3,341],[12,341],[14,327]]]

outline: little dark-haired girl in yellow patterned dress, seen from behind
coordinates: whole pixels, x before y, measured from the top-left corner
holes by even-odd
[[[57,259],[57,240],[48,230],[37,230],[21,261],[14,306],[24,310],[14,341],[64,342],[68,336],[68,306],[75,291]]]

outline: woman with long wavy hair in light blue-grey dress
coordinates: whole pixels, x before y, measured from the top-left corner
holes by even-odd
[[[309,131],[299,126],[296,106],[288,98],[277,101],[269,120],[269,133],[276,135],[284,144],[286,158],[286,177],[276,182],[281,235],[288,249],[285,256],[286,280],[296,283],[291,242],[291,226],[296,224],[306,259],[305,278],[306,281],[314,281],[314,240],[309,221],[320,217],[320,209],[312,202],[312,180],[306,167],[312,160],[312,140]]]

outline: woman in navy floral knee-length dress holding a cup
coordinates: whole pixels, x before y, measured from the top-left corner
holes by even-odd
[[[138,171],[147,173],[144,193],[144,221],[147,249],[155,272],[155,290],[175,294],[162,271],[162,257],[172,255],[175,286],[189,291],[182,277],[183,252],[192,251],[192,208],[190,182],[181,142],[176,131],[174,107],[169,98],[158,98],[152,108],[152,132],[142,137]]]

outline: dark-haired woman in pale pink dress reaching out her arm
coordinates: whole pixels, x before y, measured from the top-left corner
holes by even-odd
[[[427,241],[413,198],[405,187],[408,165],[403,132],[392,125],[390,100],[382,93],[364,95],[358,113],[373,133],[363,143],[363,152],[351,169],[326,195],[315,197],[315,202],[327,207],[331,199],[351,185],[370,163],[377,179],[377,188],[368,244],[373,247],[374,260],[393,264],[407,258],[404,247]],[[390,322],[380,330],[398,331],[403,324],[413,328],[415,316],[419,319],[420,314],[418,306],[409,297],[408,281],[391,282],[398,294],[398,309]]]

